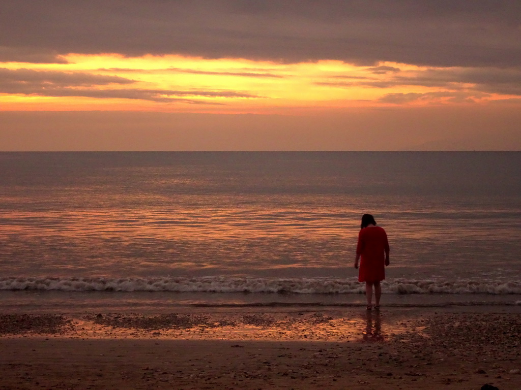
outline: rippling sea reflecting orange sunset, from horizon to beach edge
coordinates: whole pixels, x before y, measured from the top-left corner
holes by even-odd
[[[0,153],[4,306],[521,301],[520,152]],[[117,303],[117,304],[116,304]]]

